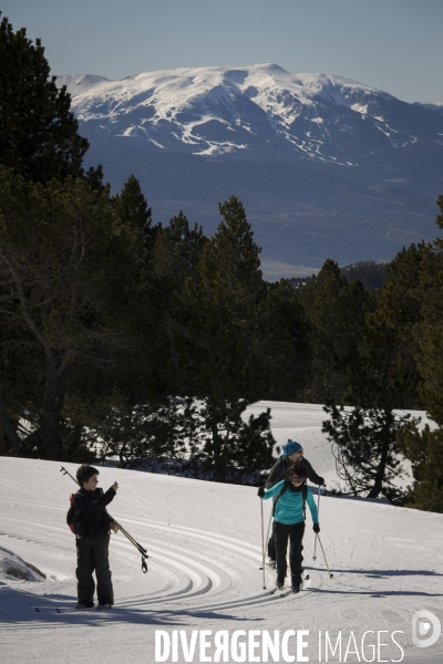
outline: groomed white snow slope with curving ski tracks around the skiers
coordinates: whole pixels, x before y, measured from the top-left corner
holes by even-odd
[[[331,478],[321,407],[272,404],[272,413],[276,437],[300,439],[317,471]],[[74,484],[56,461],[2,457],[0,473],[4,663],[151,664],[156,654],[157,661],[195,664],[442,661],[443,636],[429,647],[418,643],[435,636],[443,620],[443,515],[322,496],[320,535],[333,577],[320,550],[313,560],[308,515],[303,553],[310,579],[299,595],[280,599],[268,594],[275,580],[269,569],[262,588],[255,488],[102,468],[100,486],[120,484],[110,511],[146,547],[148,572],[142,573],[135,548],[121,533],[112,536],[115,605],[105,614],[80,612],[72,609],[75,543],[65,525]],[[264,511],[266,529],[269,502]],[[29,579],[12,577],[11,568]],[[419,611],[431,613],[423,618]],[[174,650],[167,656],[165,642],[177,631],[177,656]],[[193,639],[195,651],[187,655],[183,643],[192,646]],[[278,655],[269,640],[278,642]],[[229,650],[217,658],[217,643],[225,642]]]

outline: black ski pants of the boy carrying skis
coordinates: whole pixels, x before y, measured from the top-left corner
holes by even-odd
[[[109,532],[99,537],[78,538],[75,574],[79,602],[93,601],[95,582],[92,573],[95,572],[99,604],[114,603],[109,550]]]

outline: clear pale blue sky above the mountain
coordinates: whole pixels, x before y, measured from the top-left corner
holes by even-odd
[[[2,0],[54,74],[275,62],[443,102],[443,0]]]

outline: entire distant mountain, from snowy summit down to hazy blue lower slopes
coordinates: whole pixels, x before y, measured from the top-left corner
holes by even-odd
[[[181,209],[212,235],[238,196],[267,279],[390,261],[435,238],[443,115],[349,79],[276,64],[177,69],[122,81],[63,75],[85,166],[114,190],[133,173],[155,221]]]

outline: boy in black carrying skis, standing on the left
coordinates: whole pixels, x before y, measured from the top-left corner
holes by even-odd
[[[114,603],[109,561],[110,530],[117,532],[119,523],[106,510],[106,505],[117,492],[116,481],[104,494],[97,488],[99,470],[92,466],[80,466],[76,471],[80,489],[74,494],[76,525],[76,579],[78,609],[94,605],[95,571],[97,584],[97,609],[111,609]]]

